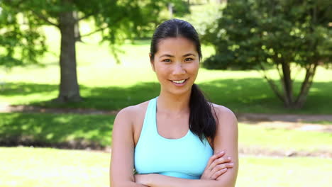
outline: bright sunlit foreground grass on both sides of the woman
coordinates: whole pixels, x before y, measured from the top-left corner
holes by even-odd
[[[0,147],[0,186],[109,186],[110,154]],[[240,157],[237,186],[330,186],[332,159]]]

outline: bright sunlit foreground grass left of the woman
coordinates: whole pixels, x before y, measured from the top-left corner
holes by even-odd
[[[0,148],[0,186],[108,186],[109,154]]]

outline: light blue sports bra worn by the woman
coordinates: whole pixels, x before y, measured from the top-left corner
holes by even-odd
[[[134,167],[138,174],[162,174],[183,179],[200,179],[213,155],[191,130],[179,139],[167,139],[157,132],[157,98],[150,100],[144,123],[135,147]]]

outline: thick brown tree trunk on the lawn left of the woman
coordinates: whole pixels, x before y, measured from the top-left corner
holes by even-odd
[[[72,11],[60,13],[59,28],[61,33],[60,52],[60,92],[55,101],[77,102],[79,95],[76,71],[76,49],[74,35],[75,19]]]

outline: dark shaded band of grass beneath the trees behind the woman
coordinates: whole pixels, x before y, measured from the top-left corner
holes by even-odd
[[[326,104],[332,100],[331,82],[314,82],[304,108],[301,110],[284,108],[283,103],[267,85],[264,79],[219,79],[199,84],[211,101],[230,108],[236,113],[311,113],[331,114],[332,108]],[[301,83],[296,81],[294,90],[299,90]],[[40,97],[57,93],[58,86],[52,84],[9,83],[1,91],[5,98],[25,97],[39,94]],[[126,106],[148,101],[159,94],[158,83],[146,82],[131,87],[87,87],[80,86],[84,101],[80,103],[57,104],[48,101],[27,102],[34,106],[48,108],[96,108],[119,110]],[[54,95],[56,97],[56,95]],[[26,101],[26,100],[25,100]]]

